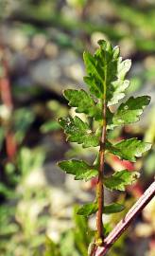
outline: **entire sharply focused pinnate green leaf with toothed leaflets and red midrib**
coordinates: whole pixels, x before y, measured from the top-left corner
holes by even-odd
[[[135,162],[136,157],[142,156],[151,145],[136,137],[116,143],[108,139],[109,132],[114,127],[138,121],[150,97],[130,97],[113,113],[111,106],[125,97],[125,91],[129,86],[129,81],[125,77],[131,62],[122,60],[118,46],[112,47],[109,42],[103,40],[100,40],[98,45],[95,55],[89,52],[83,54],[87,73],[84,82],[87,83],[89,92],[74,89],[64,91],[64,97],[69,101],[69,105],[76,107],[77,113],[84,113],[87,117],[93,118],[95,123],[97,122],[97,129],[92,129],[88,122],[78,117],[59,119],[67,140],[77,142],[83,148],[98,147],[98,154],[93,164],[81,159],[63,160],[58,164],[61,170],[75,175],[77,180],[87,181],[97,176],[95,201],[82,206],[77,213],[85,216],[96,213],[95,246],[102,247],[105,238],[102,214],[124,210],[124,206],[119,203],[105,205],[104,187],[111,191],[125,191],[126,186],[139,177],[139,173],[128,170],[114,171],[110,176],[105,175],[105,156],[113,154],[121,159]]]

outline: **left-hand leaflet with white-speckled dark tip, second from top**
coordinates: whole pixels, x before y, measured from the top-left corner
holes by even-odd
[[[71,142],[82,144],[83,148],[96,147],[99,144],[99,133],[92,132],[88,123],[83,122],[78,117],[75,119],[64,118],[59,119],[60,126],[68,135],[67,139]]]

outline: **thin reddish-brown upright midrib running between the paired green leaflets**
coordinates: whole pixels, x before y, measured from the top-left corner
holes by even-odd
[[[99,149],[99,171],[98,171],[98,182],[97,182],[97,203],[98,211],[96,215],[96,227],[97,227],[97,239],[100,245],[103,243],[104,233],[103,233],[103,221],[102,212],[104,207],[104,189],[103,189],[103,174],[104,174],[104,158],[105,158],[105,143],[106,143],[106,95],[104,93],[103,99],[103,127],[102,135],[100,139],[100,149]],[[97,243],[98,244],[98,243]]]

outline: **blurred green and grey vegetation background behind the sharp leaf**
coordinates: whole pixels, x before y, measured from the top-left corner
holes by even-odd
[[[61,91],[85,87],[82,52],[94,52],[99,39],[132,60],[127,97],[147,94],[151,104],[140,122],[114,129],[111,138],[135,136],[153,146],[134,165],[106,159],[107,173],[141,172],[126,193],[106,191],[107,202],[119,198],[129,210],[155,171],[155,1],[0,0],[0,10],[0,255],[86,256],[95,218],[88,222],[75,211],[92,200],[95,181],[75,182],[56,162],[92,160],[95,149],[65,142],[57,118],[75,112]],[[104,216],[107,228],[124,214]],[[155,200],[108,255],[155,255]]]

